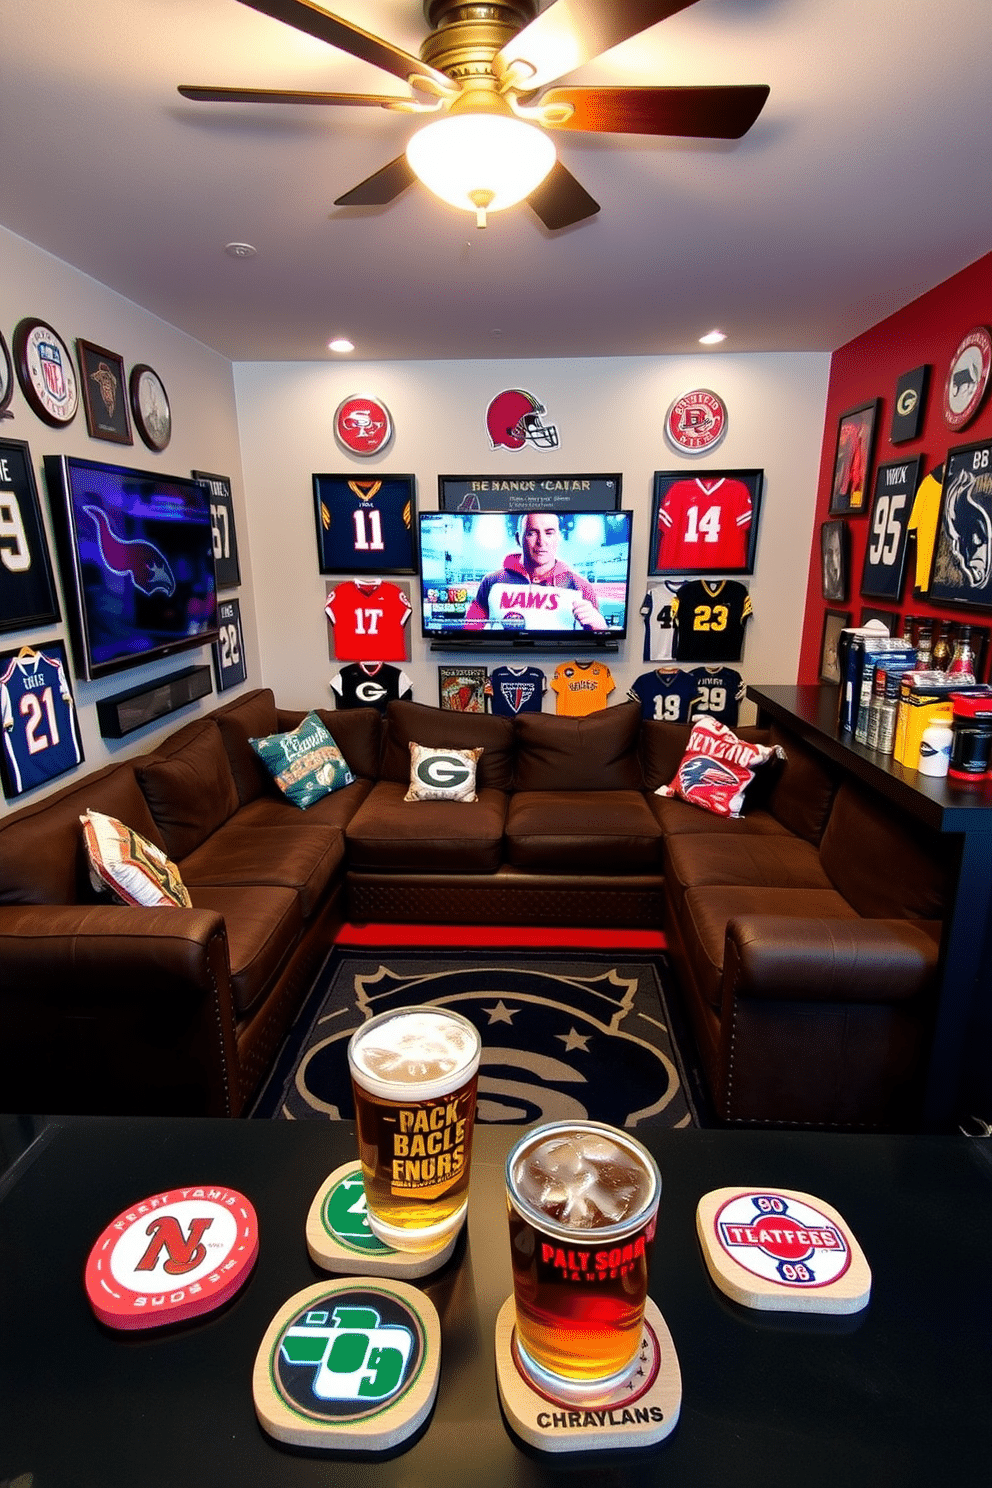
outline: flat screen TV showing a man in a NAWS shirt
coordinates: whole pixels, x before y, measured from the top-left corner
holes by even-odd
[[[631,512],[421,512],[424,635],[602,646],[626,635]]]

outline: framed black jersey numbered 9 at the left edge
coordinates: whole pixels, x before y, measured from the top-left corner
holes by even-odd
[[[0,439],[0,631],[61,619],[27,443]]]

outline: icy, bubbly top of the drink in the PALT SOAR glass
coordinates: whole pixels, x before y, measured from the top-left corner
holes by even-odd
[[[593,1122],[559,1122],[525,1137],[510,1153],[507,1177],[518,1207],[565,1231],[637,1223],[660,1187],[640,1143]]]

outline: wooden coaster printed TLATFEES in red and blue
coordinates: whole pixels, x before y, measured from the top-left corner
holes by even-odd
[[[709,1275],[733,1302],[766,1312],[860,1312],[872,1295],[864,1251],[840,1214],[791,1189],[714,1189],[696,1208]]]

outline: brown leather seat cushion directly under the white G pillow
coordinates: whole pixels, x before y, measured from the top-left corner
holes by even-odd
[[[485,754],[483,754],[485,759]],[[479,799],[403,799],[406,783],[381,780],[345,829],[348,866],[384,872],[495,873],[503,860],[506,796],[480,789]]]

